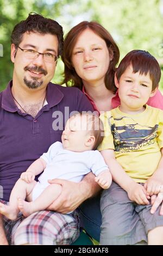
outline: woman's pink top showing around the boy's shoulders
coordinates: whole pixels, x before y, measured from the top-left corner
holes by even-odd
[[[99,113],[99,110],[97,109],[96,107],[96,104],[95,102],[92,100],[92,98],[90,97],[90,95],[88,95],[86,92],[85,92],[85,88],[83,86],[82,88],[82,92],[87,96],[87,98],[89,99],[89,101],[91,102],[93,108],[95,109],[95,111],[98,111]],[[112,108],[116,108],[120,105],[120,97],[118,95],[118,90],[115,94],[114,97],[112,97],[111,99],[111,106]],[[153,96],[153,97],[150,97],[149,100],[147,101],[147,105],[151,106],[151,107],[156,107],[156,108],[160,108],[163,110],[163,96],[160,92],[160,90],[158,90],[156,92],[156,94]]]

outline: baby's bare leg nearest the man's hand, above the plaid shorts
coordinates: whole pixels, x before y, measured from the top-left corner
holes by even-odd
[[[34,193],[34,190],[33,190]],[[43,190],[39,197],[32,202],[26,202],[22,199],[18,199],[18,208],[25,217],[33,214],[36,211],[45,210],[51,205],[55,199],[59,197],[61,193],[61,185],[51,184]],[[27,197],[28,201],[31,201],[31,197]]]

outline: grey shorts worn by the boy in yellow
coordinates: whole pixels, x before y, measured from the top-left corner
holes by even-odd
[[[128,198],[127,192],[112,182],[101,197],[101,245],[134,245],[147,242],[148,231],[163,226],[160,207],[151,214],[152,205],[138,205]]]

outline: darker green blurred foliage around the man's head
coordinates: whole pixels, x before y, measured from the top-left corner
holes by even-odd
[[[51,4],[47,4],[50,2]],[[43,16],[57,20],[62,9],[73,0],[0,0],[0,44],[3,45],[3,57],[0,52],[0,92],[7,86],[12,78],[13,64],[10,60],[10,35],[14,26],[26,19],[30,12],[40,13]],[[1,51],[1,49],[0,49]],[[62,66],[59,60],[57,74]],[[59,76],[59,75],[58,75]]]

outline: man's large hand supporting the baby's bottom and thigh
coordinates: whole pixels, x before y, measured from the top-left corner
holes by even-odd
[[[86,182],[72,182],[61,179],[48,180],[49,184],[60,184],[60,196],[48,207],[48,210],[58,211],[61,214],[73,211],[87,199]]]

